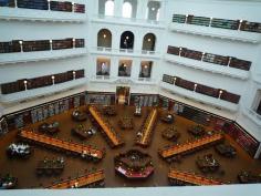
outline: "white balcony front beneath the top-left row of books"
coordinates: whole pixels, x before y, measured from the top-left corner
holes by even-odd
[[[50,3],[50,2],[49,2]],[[17,4],[17,3],[15,3]],[[31,20],[31,21],[60,21],[60,22],[84,22],[87,17],[86,13],[76,11],[54,11],[40,9],[24,9],[0,7],[0,19],[6,20]]]

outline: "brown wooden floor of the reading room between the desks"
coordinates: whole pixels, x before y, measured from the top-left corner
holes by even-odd
[[[61,115],[53,116],[49,118],[46,122],[59,121],[61,132],[58,134],[58,137],[62,140],[73,141],[77,143],[91,144],[96,146],[97,148],[106,148],[106,155],[100,163],[92,163],[80,157],[71,157],[69,155],[56,153],[51,149],[44,149],[40,146],[34,146],[34,152],[29,159],[9,159],[6,155],[6,149],[8,145],[17,140],[17,131],[12,131],[9,134],[2,136],[0,138],[0,174],[11,173],[15,177],[19,178],[18,188],[39,188],[39,187],[46,187],[52,185],[52,183],[58,182],[59,179],[66,179],[67,177],[74,178],[77,176],[83,175],[87,171],[93,171],[94,167],[100,169],[105,169],[105,187],[146,187],[146,186],[168,186],[168,172],[169,167],[174,167],[178,171],[184,172],[194,172],[199,175],[203,175],[198,168],[195,163],[197,156],[212,153],[215,157],[220,162],[220,169],[217,173],[203,175],[206,177],[213,177],[218,180],[226,183],[238,183],[237,174],[241,169],[252,171],[254,174],[261,173],[261,162],[257,159],[252,159],[249,155],[243,152],[231,138],[226,136],[227,142],[230,143],[237,148],[238,155],[236,158],[226,158],[218,155],[213,147],[202,149],[196,154],[187,155],[181,159],[180,163],[168,164],[163,161],[158,156],[158,148],[163,148],[166,145],[174,144],[173,142],[166,141],[161,137],[161,131],[168,126],[157,121],[156,128],[153,134],[152,144],[147,148],[142,148],[135,145],[136,133],[146,116],[145,111],[150,109],[143,109],[143,116],[135,117],[133,116],[134,107],[130,106],[117,106],[117,115],[109,117],[108,121],[115,127],[117,132],[119,132],[119,136],[124,140],[125,145],[118,148],[112,149],[105,140],[103,138],[101,133],[96,133],[94,136],[88,138],[87,141],[81,141],[76,136],[71,135],[71,128],[74,127],[76,122],[71,120],[72,111],[65,112]],[[118,120],[123,115],[129,115],[134,117],[135,128],[133,131],[121,131],[118,126]],[[35,123],[25,127],[27,130],[36,130],[38,125]],[[91,122],[87,120],[83,123],[87,127],[91,126]],[[195,124],[194,122],[186,120],[180,116],[176,116],[175,125],[177,126],[178,131],[181,133],[178,143],[184,143],[188,140],[192,140],[194,137],[187,133],[187,127]],[[208,127],[210,128],[210,127]],[[210,128],[211,130],[211,128]],[[118,153],[123,153],[128,151],[129,148],[139,148],[146,153],[148,153],[153,157],[153,163],[155,166],[155,173],[147,179],[143,180],[130,180],[125,179],[123,176],[115,174],[114,171],[114,156]],[[62,175],[60,176],[52,176],[52,177],[38,177],[35,174],[35,167],[38,161],[43,159],[44,157],[55,157],[55,156],[63,156],[65,158],[65,168]],[[223,171],[225,173],[220,172]]]

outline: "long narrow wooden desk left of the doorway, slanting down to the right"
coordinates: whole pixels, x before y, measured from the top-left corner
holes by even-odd
[[[116,133],[113,131],[112,125],[106,123],[103,117],[101,116],[100,112],[95,106],[90,106],[88,111],[91,115],[94,117],[94,120],[98,123],[101,126],[103,133],[108,137],[108,140],[112,142],[111,146],[116,147],[119,145],[123,145],[124,143],[122,140],[116,135]]]

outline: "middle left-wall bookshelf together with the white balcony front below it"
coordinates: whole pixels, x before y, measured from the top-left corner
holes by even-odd
[[[12,40],[0,42],[0,64],[64,59],[86,52],[84,39]]]

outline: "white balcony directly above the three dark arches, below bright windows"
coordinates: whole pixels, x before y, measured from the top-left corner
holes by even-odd
[[[96,14],[93,16],[92,22],[98,23],[112,23],[112,24],[123,24],[123,25],[134,25],[134,27],[145,27],[155,29],[165,29],[165,23],[156,20],[136,19],[136,18],[123,18],[115,16],[104,16]]]

